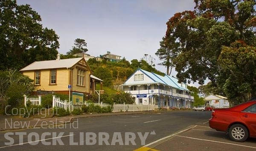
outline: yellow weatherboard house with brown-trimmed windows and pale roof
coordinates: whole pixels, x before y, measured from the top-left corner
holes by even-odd
[[[34,93],[63,93],[70,91],[84,93],[84,95],[95,93],[96,82],[101,84],[102,80],[93,76],[93,72],[84,58],[60,59],[35,61],[20,70],[23,75],[34,80]]]

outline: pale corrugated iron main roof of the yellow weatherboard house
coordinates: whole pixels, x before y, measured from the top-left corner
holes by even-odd
[[[82,58],[70,58],[60,60],[48,60],[48,61],[35,61],[32,64],[24,67],[20,71],[28,70],[42,70],[42,69],[55,69],[55,68],[70,68],[78,63]]]

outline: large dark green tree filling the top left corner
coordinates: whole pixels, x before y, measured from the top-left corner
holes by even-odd
[[[58,35],[43,28],[37,12],[16,0],[0,0],[0,8],[0,70],[56,58]]]

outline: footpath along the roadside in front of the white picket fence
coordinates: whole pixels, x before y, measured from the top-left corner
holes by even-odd
[[[91,113],[81,114],[76,116],[62,116],[62,117],[51,117],[44,118],[40,116],[35,117],[19,117],[19,116],[0,116],[0,131],[15,130],[20,128],[38,128],[38,127],[53,127],[61,124],[72,123],[76,119],[95,117],[95,116],[115,116],[115,115],[128,115],[128,114],[140,114],[140,113],[155,113],[154,111],[146,112],[116,112],[116,113]]]

